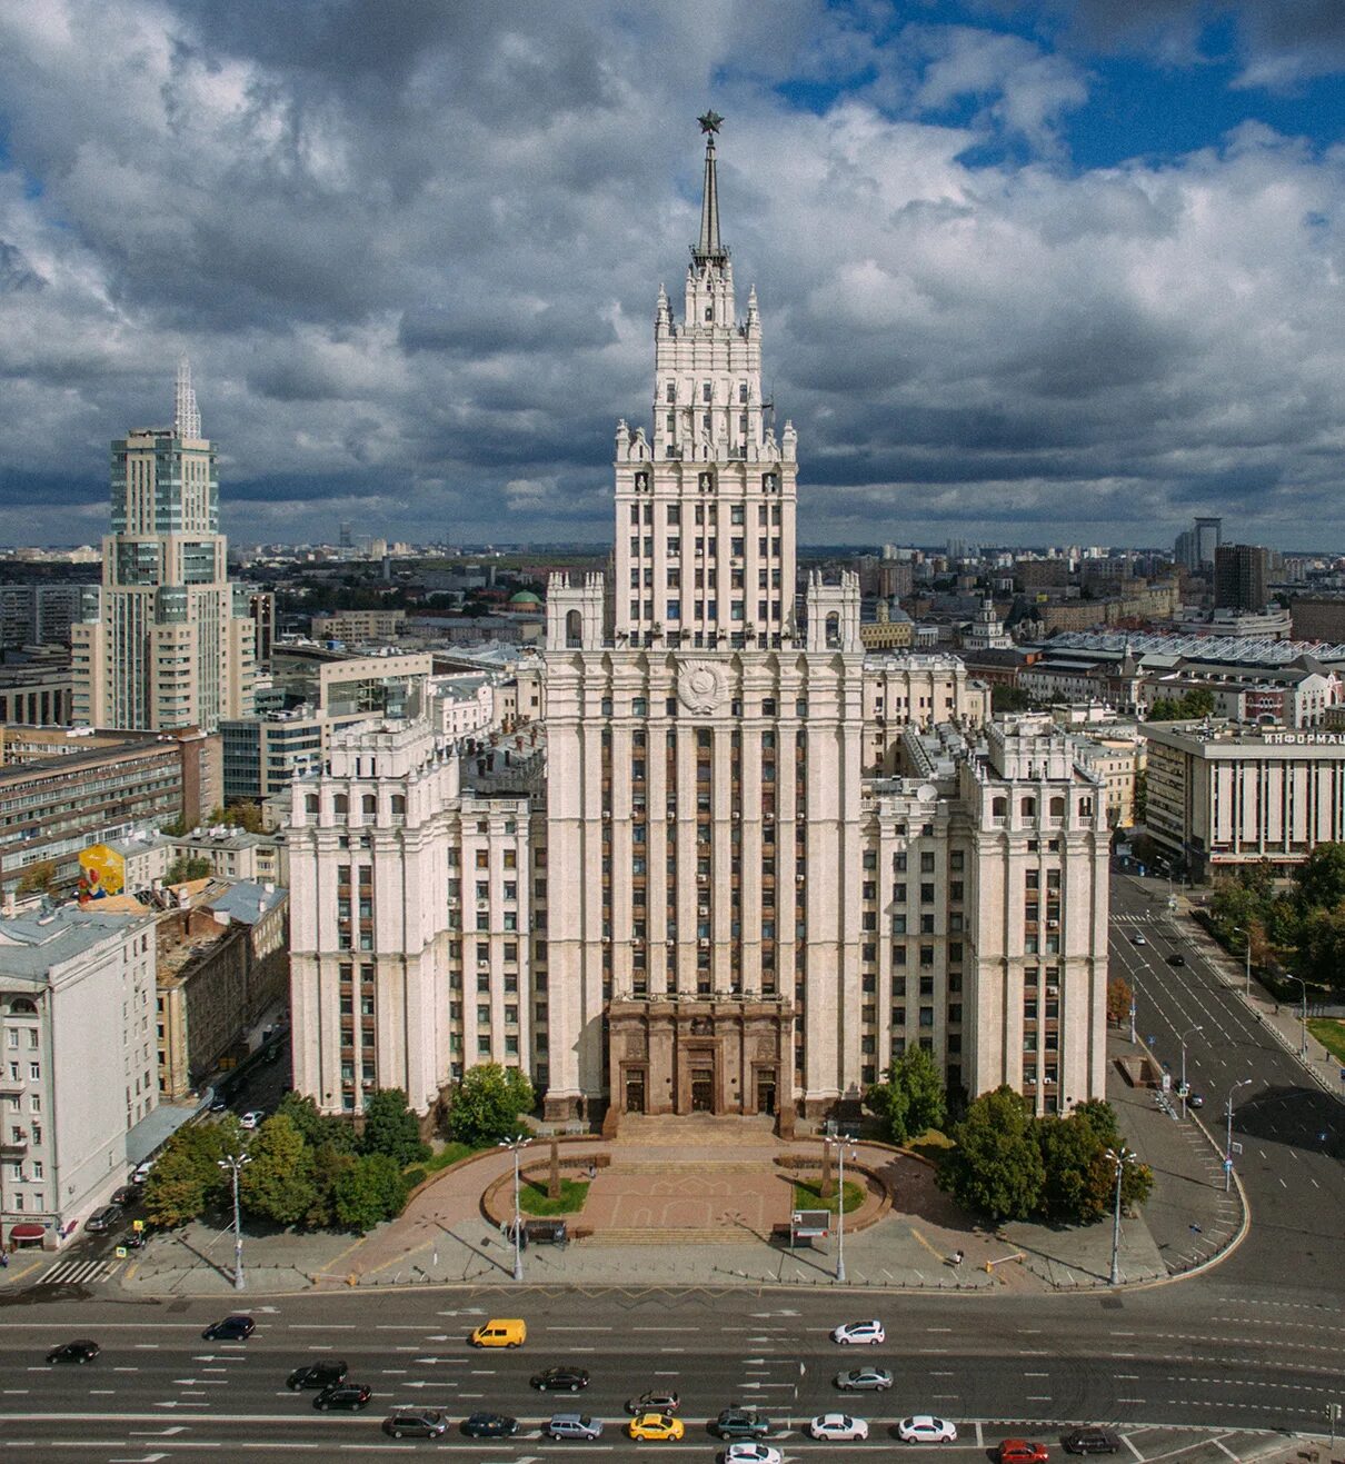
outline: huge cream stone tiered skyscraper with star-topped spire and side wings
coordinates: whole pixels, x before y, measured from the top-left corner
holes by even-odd
[[[326,1111],[424,1111],[493,1057],[553,1120],[787,1126],[916,1044],[1039,1111],[1104,1092],[1101,779],[1049,719],[984,729],[954,657],[866,653],[853,574],[796,603],[798,435],[755,293],[736,313],[719,120],[653,429],[616,433],[615,586],[549,584],[544,733],[501,767],[357,728],[294,785],[294,1082]]]

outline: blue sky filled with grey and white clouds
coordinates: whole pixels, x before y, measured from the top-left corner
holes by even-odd
[[[1124,19],[1118,19],[1123,16]],[[0,0],[0,542],[603,542],[724,237],[803,542],[1345,548],[1341,0]]]

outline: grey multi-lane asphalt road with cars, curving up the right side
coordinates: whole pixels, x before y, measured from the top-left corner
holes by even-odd
[[[1134,944],[1134,935],[1144,935]],[[1168,956],[1185,965],[1172,966]],[[1174,1460],[1184,1444],[1218,1438],[1221,1457],[1265,1448],[1248,1430],[1325,1432],[1345,1401],[1345,1176],[1341,1105],[1304,1078],[1292,1051],[1256,1020],[1152,887],[1114,881],[1112,968],[1137,993],[1139,1028],[1155,1054],[1203,1092],[1202,1118],[1222,1138],[1222,1105],[1237,1089],[1234,1139],[1253,1227],[1207,1274],[1120,1294],[888,1296],[877,1291],[666,1290],[593,1293],[522,1287],[258,1297],[258,1331],[241,1344],[205,1342],[222,1307],[205,1301],[117,1300],[113,1287],[29,1287],[0,1306],[0,1438],[28,1458],[145,1461],[233,1454],[360,1457],[413,1449],[490,1461],[602,1454],[625,1460],[713,1458],[707,1422],[733,1401],[765,1411],[786,1460],[862,1458],[894,1451],[896,1420],[931,1411],[962,1438],[941,1455],[975,1460],[1014,1433],[1048,1439],[1063,1426],[1118,1424],[1134,1460]],[[59,1299],[51,1299],[57,1296]],[[487,1313],[521,1315],[517,1353],[467,1344]],[[887,1341],[840,1348],[840,1321],[878,1316]],[[48,1367],[59,1341],[95,1337],[85,1367]],[[291,1394],[296,1364],[338,1356],[375,1398],[367,1413],[319,1414]],[[528,1386],[547,1364],[587,1367],[577,1398]],[[844,1366],[894,1373],[885,1394],[839,1394]],[[682,1394],[682,1444],[622,1436],[623,1404],[645,1388]],[[479,1410],[522,1420],[506,1442],[457,1429],[441,1444],[394,1441],[379,1424],[394,1404],[443,1410],[457,1424]],[[580,1407],[607,1420],[593,1445],[549,1442],[540,1424]],[[806,1420],[828,1408],[866,1417],[868,1444],[820,1444]]]

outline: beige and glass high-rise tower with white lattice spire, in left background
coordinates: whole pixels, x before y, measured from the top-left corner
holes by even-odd
[[[113,442],[102,590],[72,627],[75,722],[214,731],[250,716],[253,622],[220,533],[215,447],[183,357],[171,427]]]

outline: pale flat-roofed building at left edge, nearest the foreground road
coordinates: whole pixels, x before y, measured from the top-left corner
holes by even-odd
[[[126,1180],[158,1102],[154,921],[61,906],[0,918],[0,1230],[56,1246]]]

